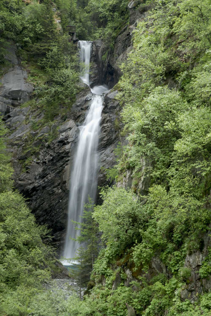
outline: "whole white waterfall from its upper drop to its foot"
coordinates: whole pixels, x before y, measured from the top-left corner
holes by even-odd
[[[85,74],[82,81],[89,86],[89,64],[92,42],[79,41],[80,60],[85,63]],[[108,90],[106,86],[96,86],[91,89],[93,94],[91,106],[83,126],[80,126],[79,142],[76,151],[73,170],[71,174],[71,187],[68,205],[68,222],[63,257],[74,258],[79,245],[70,237],[75,237],[74,224],[81,222],[84,204],[90,196],[95,200],[97,190],[98,155],[97,146],[100,132],[101,112],[103,109],[103,92]],[[63,264],[68,261],[63,260]]]

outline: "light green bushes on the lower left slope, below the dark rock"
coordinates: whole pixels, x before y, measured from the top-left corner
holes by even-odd
[[[5,133],[0,121],[0,315],[29,315],[56,266],[51,247],[42,243],[47,229],[36,224],[25,199],[13,190]]]

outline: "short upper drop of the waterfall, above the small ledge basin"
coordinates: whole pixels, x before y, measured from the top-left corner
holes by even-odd
[[[81,80],[89,86],[89,65],[91,58],[91,48],[92,42],[79,40],[78,48],[80,52],[80,61],[84,63],[85,69],[83,70],[84,74],[81,76]]]

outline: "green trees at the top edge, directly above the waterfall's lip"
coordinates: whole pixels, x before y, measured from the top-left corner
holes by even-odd
[[[75,25],[80,40],[102,38],[113,48],[114,40],[128,20],[128,0],[57,0],[63,14],[62,26]]]

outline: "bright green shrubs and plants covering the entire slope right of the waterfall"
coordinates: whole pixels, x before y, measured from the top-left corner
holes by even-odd
[[[106,189],[94,210],[106,247],[75,314],[208,316],[211,7],[136,5],[150,9],[117,85],[129,136],[116,181],[132,170],[132,192]]]

